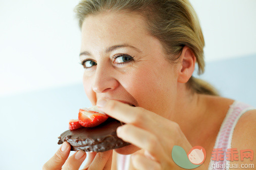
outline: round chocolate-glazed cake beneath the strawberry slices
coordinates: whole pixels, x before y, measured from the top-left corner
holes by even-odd
[[[91,152],[103,152],[129,145],[130,143],[123,141],[117,137],[116,130],[124,123],[108,118],[104,123],[92,127],[82,127],[76,130],[67,130],[61,134],[58,144],[67,141],[71,145],[71,150],[84,150]]]

